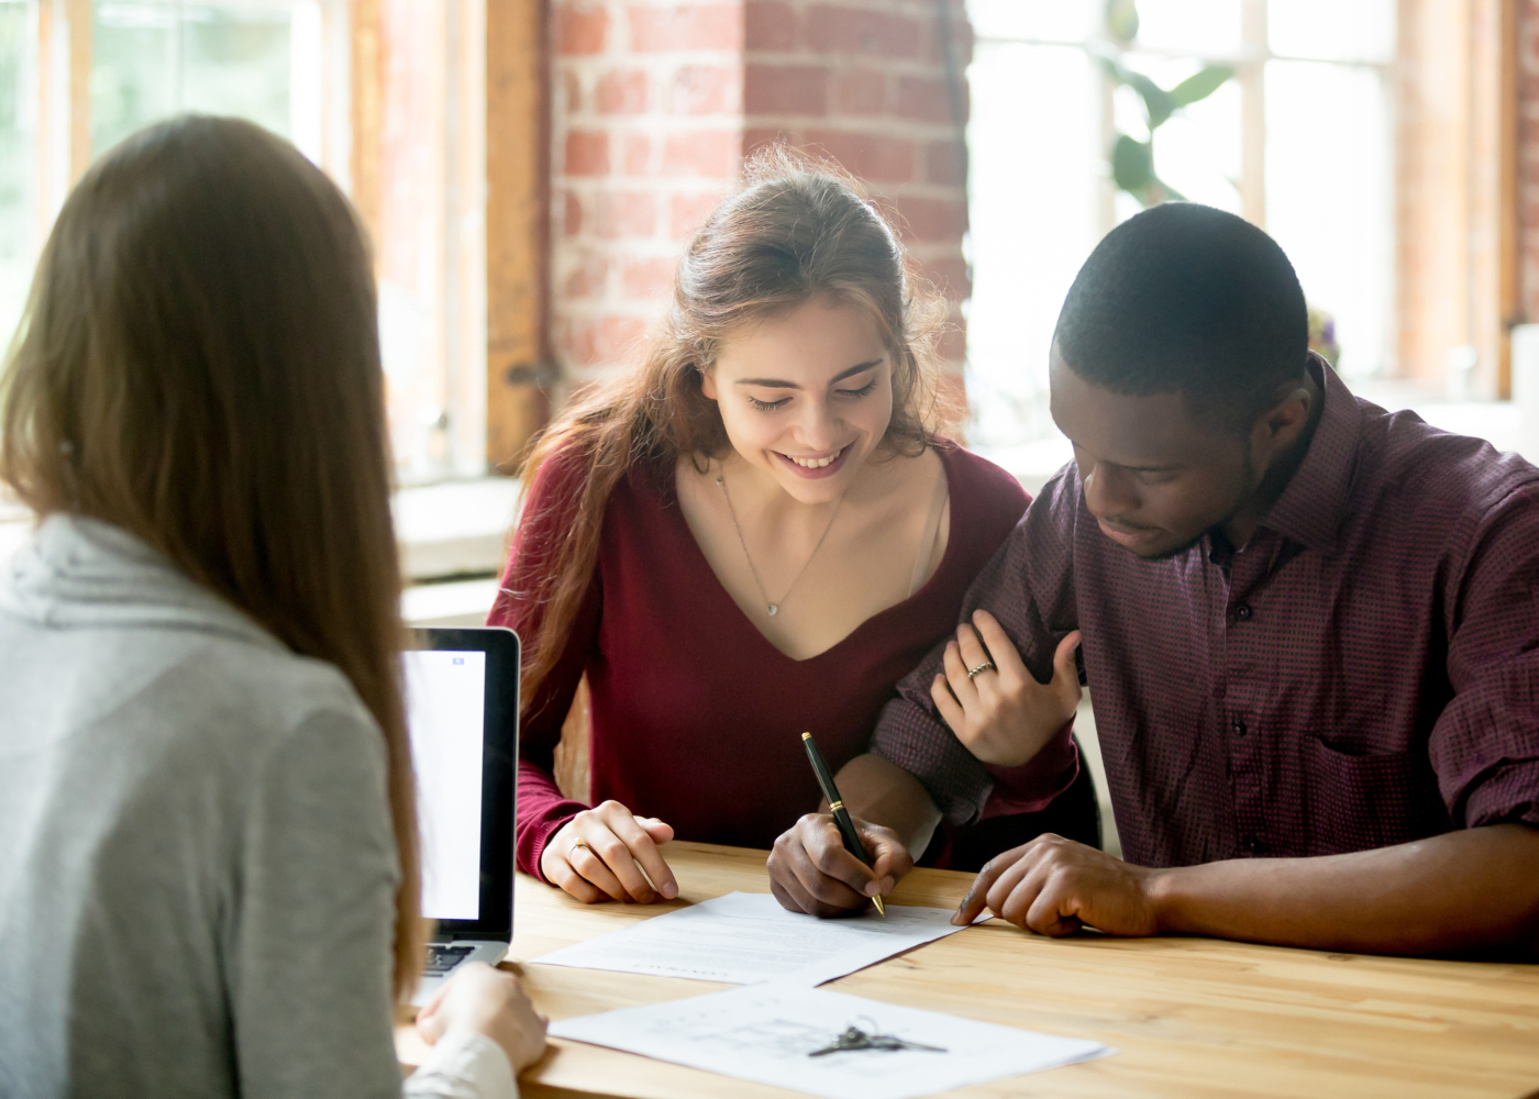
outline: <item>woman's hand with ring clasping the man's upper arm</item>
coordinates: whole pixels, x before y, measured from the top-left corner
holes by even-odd
[[[976,631],[963,622],[956,640],[946,643],[946,674],[936,676],[930,697],[957,740],[982,762],[1020,767],[1068,725],[1079,705],[1079,630],[1059,642],[1053,680],[1039,683],[993,614],[976,611],[973,622]],[[985,663],[993,666],[968,679],[970,668]]]

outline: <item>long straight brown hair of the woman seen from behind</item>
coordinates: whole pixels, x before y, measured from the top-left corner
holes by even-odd
[[[352,682],[389,760],[403,993],[423,927],[374,305],[352,208],[294,146],[232,119],[152,126],[85,174],[43,248],[0,476]]]

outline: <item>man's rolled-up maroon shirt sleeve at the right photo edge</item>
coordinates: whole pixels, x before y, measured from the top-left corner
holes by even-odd
[[[1539,825],[1539,488],[1473,523],[1450,580],[1453,700],[1428,754],[1453,822]]]

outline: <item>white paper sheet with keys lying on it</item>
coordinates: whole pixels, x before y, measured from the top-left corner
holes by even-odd
[[[939,1050],[811,1056],[848,1027]],[[794,985],[753,985],[563,1019],[549,1033],[828,1099],[911,1099],[1114,1053],[1100,1042]]]

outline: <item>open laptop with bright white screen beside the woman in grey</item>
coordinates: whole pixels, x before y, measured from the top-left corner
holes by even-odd
[[[406,728],[417,773],[422,914],[432,920],[419,1007],[465,962],[496,965],[512,942],[519,637],[416,630],[405,653]]]

